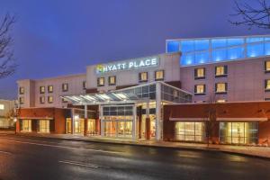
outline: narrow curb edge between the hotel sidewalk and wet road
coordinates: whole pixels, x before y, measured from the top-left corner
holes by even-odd
[[[49,137],[49,136],[35,136],[29,134],[6,134],[6,135],[15,135],[15,136],[22,136],[22,137],[35,137],[35,138],[44,138],[44,139],[59,139],[59,140],[69,140],[69,141],[81,141],[81,142],[94,142],[94,143],[103,143],[103,144],[117,144],[117,145],[128,145],[128,146],[137,146],[137,147],[145,147],[145,148],[171,148],[171,149],[179,149],[179,150],[193,150],[193,151],[208,151],[208,152],[221,152],[231,155],[238,155],[242,157],[256,157],[261,159],[270,160],[270,157],[259,156],[259,155],[252,155],[245,152],[235,152],[229,149],[221,149],[221,148],[197,148],[197,147],[171,147],[171,146],[160,146],[160,145],[153,145],[153,144],[139,144],[136,142],[123,142],[123,141],[110,141],[110,140],[103,140],[103,139],[73,139],[73,138],[59,138],[59,137]]]

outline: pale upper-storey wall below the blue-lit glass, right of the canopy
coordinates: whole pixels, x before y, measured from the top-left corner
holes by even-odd
[[[265,73],[265,61],[270,58],[251,58],[205,64],[201,66],[181,67],[182,89],[194,92],[194,85],[205,84],[205,95],[194,95],[193,102],[209,101],[213,94],[215,83],[228,83],[228,94],[216,95],[217,99],[226,99],[228,102],[236,101],[264,101],[270,97],[265,93],[265,79],[270,79],[270,74]],[[215,77],[216,66],[228,66],[227,77]],[[206,78],[194,80],[194,68],[205,67]]]

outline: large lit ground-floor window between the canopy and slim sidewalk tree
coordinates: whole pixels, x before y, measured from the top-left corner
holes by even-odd
[[[204,141],[205,124],[199,121],[175,122],[175,139],[183,141]]]

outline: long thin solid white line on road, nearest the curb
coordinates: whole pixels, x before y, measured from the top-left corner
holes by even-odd
[[[101,150],[101,149],[94,149],[94,148],[76,148],[76,147],[67,147],[67,146],[50,145],[50,144],[40,144],[40,143],[20,141],[20,140],[10,140],[10,139],[0,139],[0,140],[2,140],[2,141],[10,141],[10,142],[17,142],[17,143],[21,143],[21,144],[31,144],[31,145],[37,145],[37,146],[52,147],[52,148],[80,149],[80,150],[88,150],[88,151],[111,153],[111,154],[122,153],[122,152],[118,152],[118,151],[109,151],[109,150]]]

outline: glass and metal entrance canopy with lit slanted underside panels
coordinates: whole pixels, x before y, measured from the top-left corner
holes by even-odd
[[[149,100],[160,100],[171,103],[190,103],[192,94],[164,82],[152,82],[135,85],[107,93],[63,95],[62,98],[74,105],[109,104],[109,103],[138,103]]]

